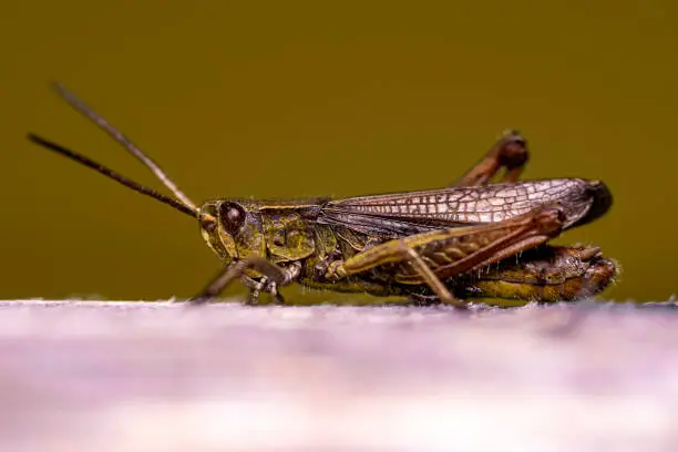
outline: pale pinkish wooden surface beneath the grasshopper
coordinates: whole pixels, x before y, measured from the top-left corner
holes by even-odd
[[[0,450],[678,450],[677,312],[1,302]]]

